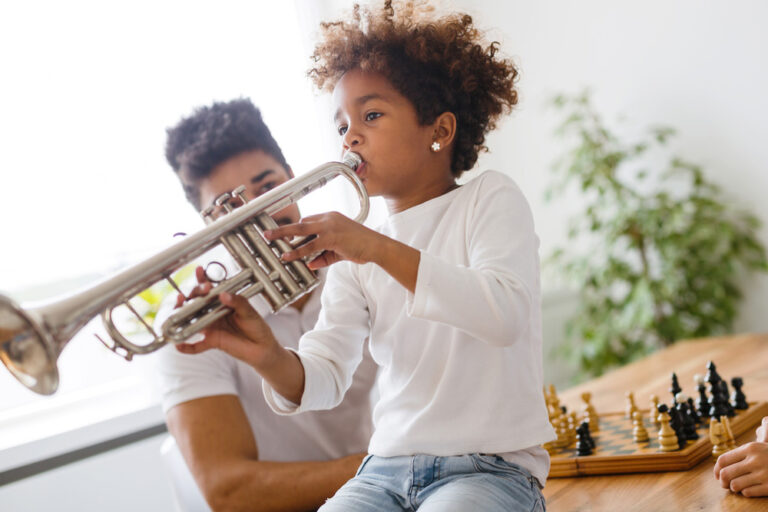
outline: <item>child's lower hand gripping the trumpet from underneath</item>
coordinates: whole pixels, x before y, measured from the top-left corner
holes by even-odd
[[[197,267],[195,275],[198,285],[192,289],[189,298],[204,296],[212,287],[202,267]],[[181,306],[184,300],[184,296],[179,295],[176,298],[176,307]],[[273,351],[281,347],[261,315],[253,309],[247,299],[239,295],[221,293],[219,300],[233,312],[203,329],[202,341],[180,343],[176,345],[177,350],[185,354],[199,354],[218,348],[257,369],[269,364],[270,357],[274,355]]]

